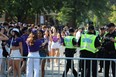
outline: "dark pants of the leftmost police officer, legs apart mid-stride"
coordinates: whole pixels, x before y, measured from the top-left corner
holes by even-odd
[[[75,49],[65,49],[65,56],[66,57],[74,57],[75,54]],[[74,62],[71,59],[67,59],[67,63],[66,63],[66,69],[63,72],[62,77],[67,77],[67,72],[69,71],[69,68],[72,70],[74,77],[77,77],[77,71],[74,69]]]

